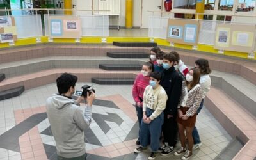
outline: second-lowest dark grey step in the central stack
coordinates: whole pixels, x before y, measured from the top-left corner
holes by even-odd
[[[99,68],[104,70],[141,70],[141,67],[142,65],[99,65]]]

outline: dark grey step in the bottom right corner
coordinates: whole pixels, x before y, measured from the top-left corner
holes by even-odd
[[[223,150],[221,150],[220,154],[218,154],[217,157],[215,157],[215,160],[226,160],[226,159],[232,159],[236,156],[237,152],[243,148],[244,144],[241,143],[240,140],[237,138],[233,138],[233,140],[225,147]]]

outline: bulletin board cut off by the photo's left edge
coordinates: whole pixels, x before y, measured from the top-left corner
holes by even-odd
[[[14,17],[0,17],[0,42],[17,41],[17,28]]]

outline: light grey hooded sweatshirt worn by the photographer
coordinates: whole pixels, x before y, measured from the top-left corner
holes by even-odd
[[[85,112],[76,100],[54,94],[46,101],[47,116],[61,157],[79,157],[86,153],[84,130],[92,122],[92,107]]]

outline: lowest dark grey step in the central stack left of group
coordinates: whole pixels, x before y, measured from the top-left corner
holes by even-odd
[[[134,78],[92,78],[92,82],[102,85],[132,85],[134,83]]]

